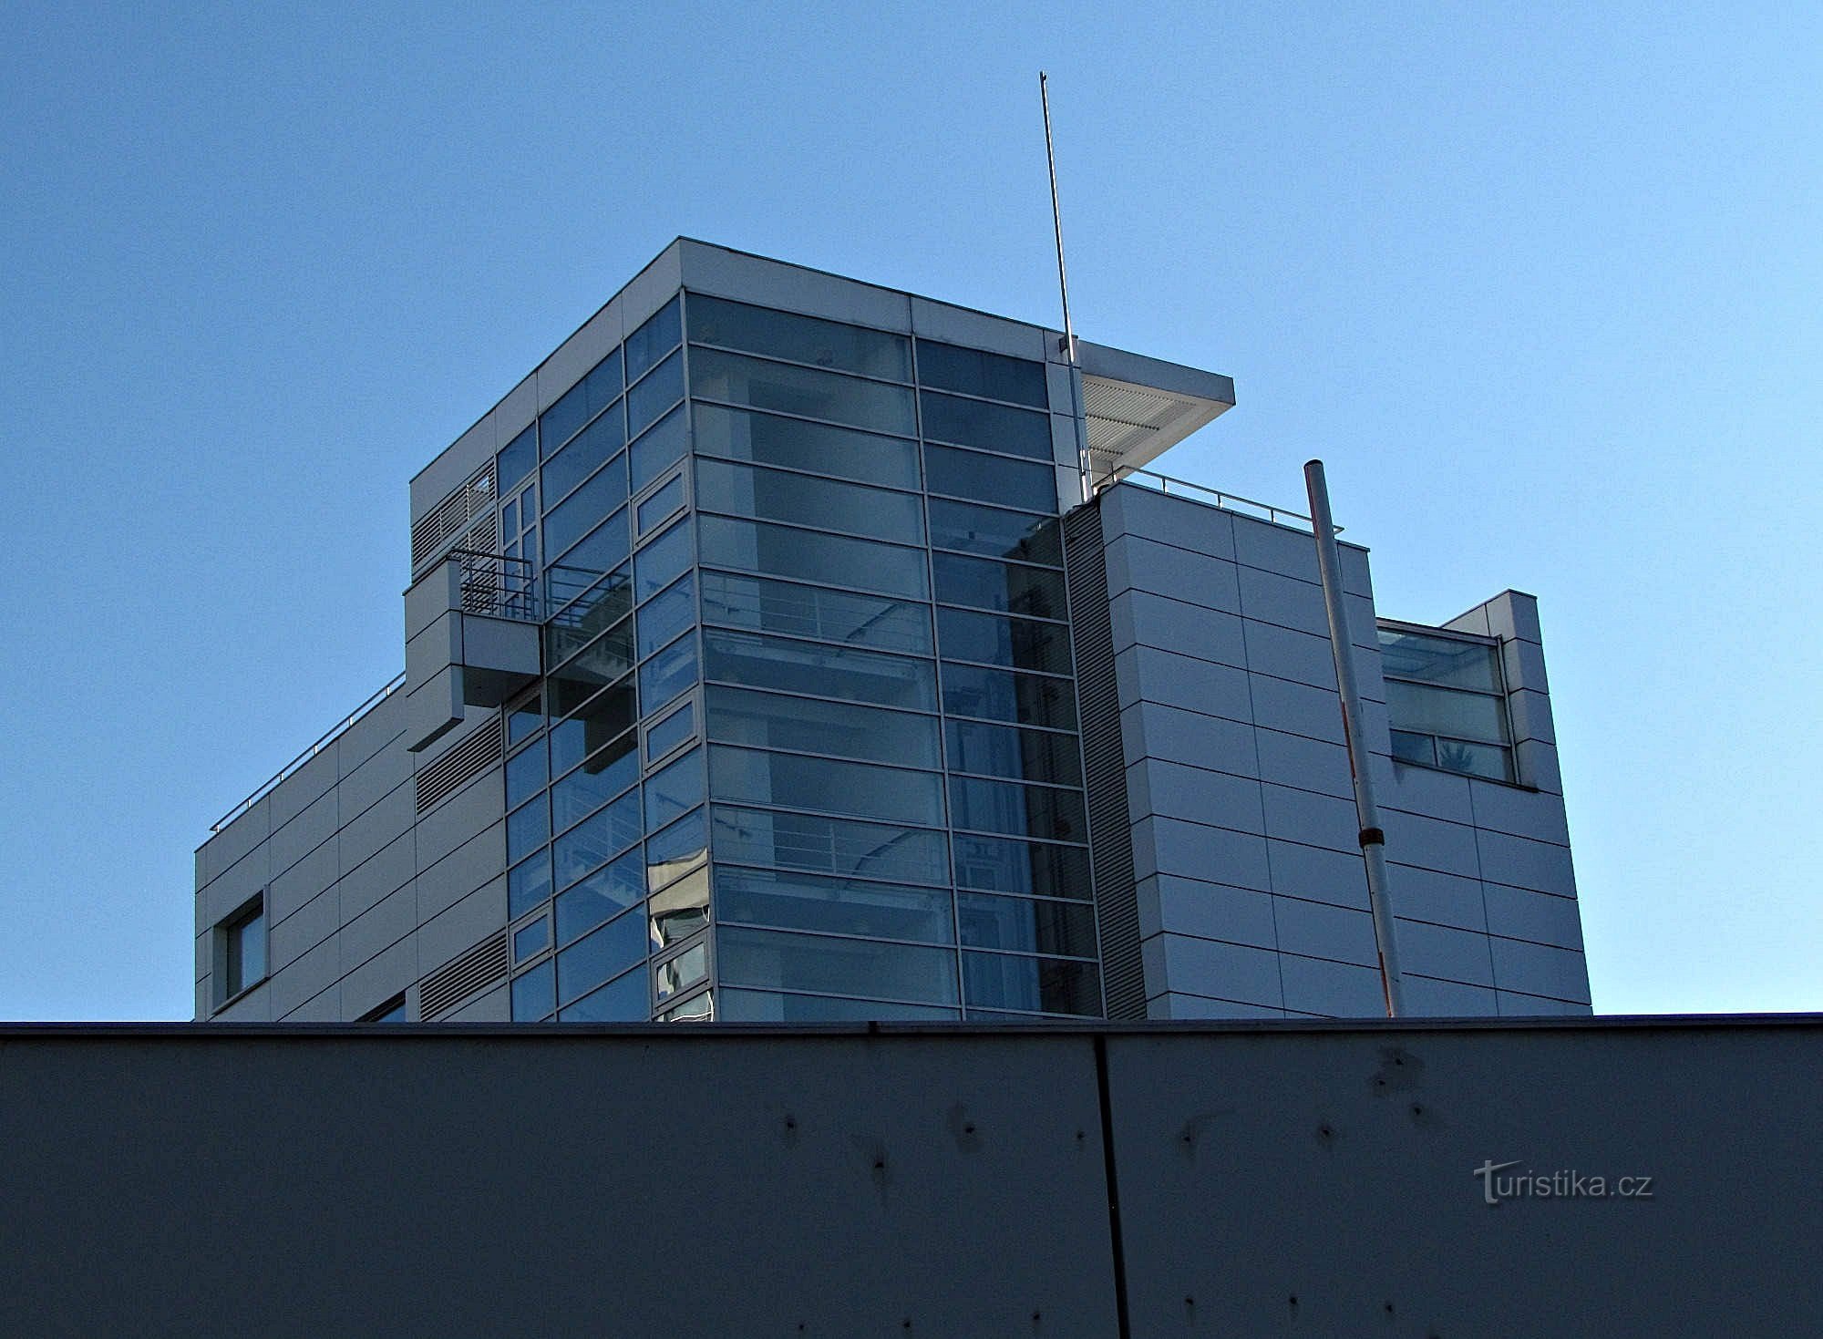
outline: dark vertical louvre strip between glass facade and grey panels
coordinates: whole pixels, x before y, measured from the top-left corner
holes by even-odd
[[[1127,812],[1127,748],[1114,684],[1114,628],[1101,542],[1101,502],[1063,518],[1065,576],[1076,642],[1076,695],[1083,722],[1083,779],[1088,784],[1088,857],[1101,929],[1101,985],[1108,1018],[1145,1018],[1139,963],[1139,901],[1134,890],[1134,834]]]

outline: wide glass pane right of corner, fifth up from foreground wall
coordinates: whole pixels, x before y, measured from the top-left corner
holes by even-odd
[[[941,777],[933,772],[716,744],[709,750],[709,794],[888,823],[942,825]]]

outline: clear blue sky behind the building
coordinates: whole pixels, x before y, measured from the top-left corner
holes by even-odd
[[[1079,332],[1236,379],[1165,467],[1540,597],[1595,1007],[1823,1007],[1816,5],[26,2],[0,1016],[190,1016],[407,480],[671,237],[1056,321],[1041,66]]]

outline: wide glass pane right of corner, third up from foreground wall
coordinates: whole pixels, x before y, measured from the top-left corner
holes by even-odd
[[[715,914],[722,925],[862,934],[875,939],[955,943],[950,894],[904,883],[828,879],[780,870],[715,870]]]

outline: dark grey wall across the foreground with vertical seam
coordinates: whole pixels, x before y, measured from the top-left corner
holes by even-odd
[[[1819,1042],[9,1027],[0,1334],[1814,1334]]]

